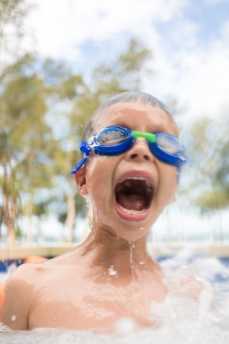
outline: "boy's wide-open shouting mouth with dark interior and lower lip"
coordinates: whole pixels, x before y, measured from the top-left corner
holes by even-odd
[[[149,213],[153,200],[153,185],[147,178],[129,177],[116,185],[115,197],[118,214],[125,218],[128,214],[135,215],[138,221],[138,215]],[[141,219],[142,216],[139,220]]]

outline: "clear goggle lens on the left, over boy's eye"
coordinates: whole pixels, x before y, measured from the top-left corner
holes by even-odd
[[[105,128],[98,133],[98,141],[105,146],[113,146],[127,139],[128,133],[121,128]]]

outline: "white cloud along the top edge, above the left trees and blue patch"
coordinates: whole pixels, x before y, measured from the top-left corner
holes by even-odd
[[[89,39],[105,41],[116,34],[144,35],[151,21],[168,21],[181,16],[182,0],[66,1],[38,0],[29,22],[36,28],[41,54],[71,58],[78,46]]]

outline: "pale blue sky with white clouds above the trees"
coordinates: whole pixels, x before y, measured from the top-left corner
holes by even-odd
[[[229,0],[28,2],[36,9],[26,25],[34,30],[41,56],[65,60],[88,74],[138,39],[153,52],[148,65],[153,74],[144,77],[143,92],[162,101],[175,97],[187,121],[201,116],[217,121],[228,108]],[[190,232],[198,230],[195,216],[187,218]],[[199,226],[208,227],[203,221]]]

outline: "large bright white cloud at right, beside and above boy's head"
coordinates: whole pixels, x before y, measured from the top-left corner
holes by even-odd
[[[197,24],[183,21],[175,26],[167,37],[168,44],[161,43],[166,39],[157,32],[156,74],[146,80],[145,91],[153,89],[162,100],[166,94],[177,97],[187,105],[188,118],[217,118],[229,103],[229,24],[222,26],[219,39],[204,43],[199,43]]]

